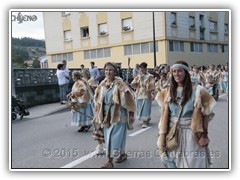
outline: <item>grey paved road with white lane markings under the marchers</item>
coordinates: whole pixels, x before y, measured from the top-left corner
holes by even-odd
[[[209,125],[213,168],[228,168],[228,112],[227,97],[223,95]],[[159,107],[154,101],[150,126],[141,129],[140,122],[136,122],[134,130],[128,131],[128,160],[115,163],[115,168],[163,168],[156,146],[159,118]],[[70,126],[70,119],[71,113],[61,107],[58,113],[42,117],[32,114],[13,122],[12,168],[99,168],[106,159],[95,156],[97,144],[92,140],[92,129],[79,133],[78,128]]]

